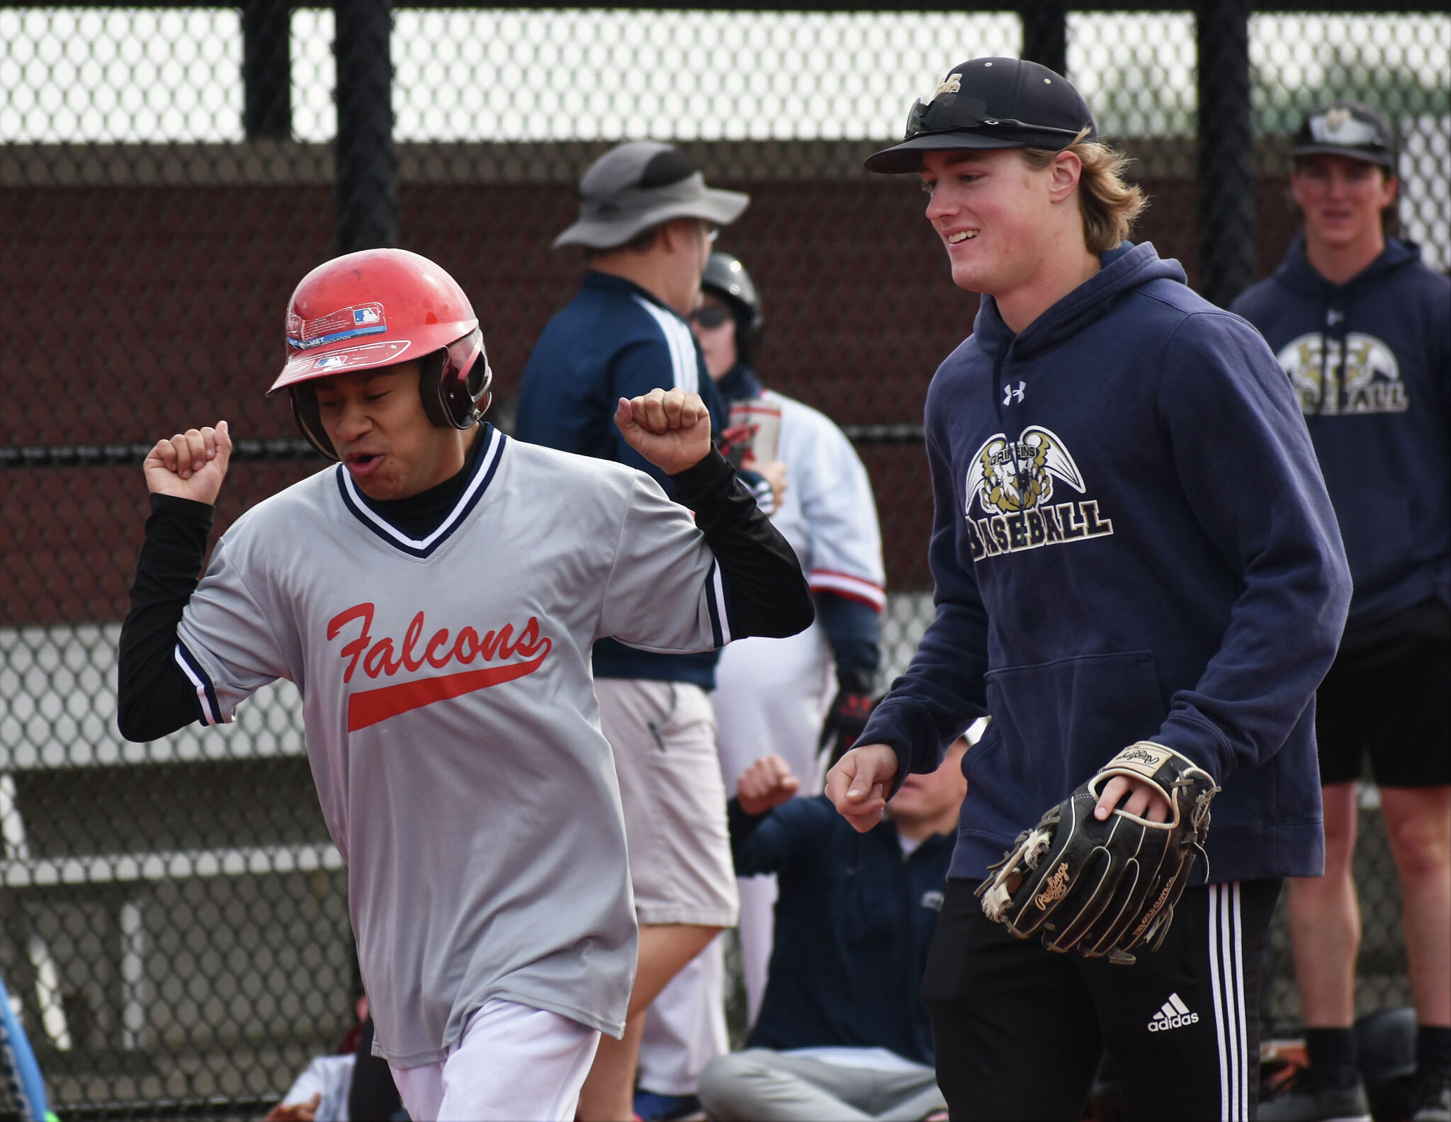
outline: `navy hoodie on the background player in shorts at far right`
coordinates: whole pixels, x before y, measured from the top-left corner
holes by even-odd
[[[1302,235],[1233,311],[1280,359],[1320,457],[1355,581],[1344,650],[1397,617],[1451,639],[1451,280],[1387,241],[1332,284]]]

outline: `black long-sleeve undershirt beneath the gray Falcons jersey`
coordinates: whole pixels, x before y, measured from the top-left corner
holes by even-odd
[[[395,499],[385,517],[405,533],[427,533],[451,509],[451,504],[440,507],[435,492],[447,492],[454,482],[414,499]],[[814,608],[797,554],[750,494],[736,485],[730,463],[712,449],[672,482],[679,501],[695,511],[695,524],[721,566],[734,636],[788,636],[808,627]],[[212,512],[205,502],[151,496],[118,655],[116,723],[128,740],[155,740],[200,716],[196,689],[174,650],[177,624],[200,579]]]

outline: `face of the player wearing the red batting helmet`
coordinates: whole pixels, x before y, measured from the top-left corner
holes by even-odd
[[[332,447],[371,499],[403,499],[463,469],[472,431],[437,428],[418,393],[416,361],[357,370],[315,383]]]

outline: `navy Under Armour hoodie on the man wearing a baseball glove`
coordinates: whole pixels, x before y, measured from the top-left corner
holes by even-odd
[[[963,759],[953,877],[1135,740],[1223,791],[1209,880],[1323,867],[1313,695],[1351,583],[1284,373],[1149,244],[1014,335],[984,298],[927,390],[936,618],[858,743]],[[1204,875],[1204,867],[1196,877]]]

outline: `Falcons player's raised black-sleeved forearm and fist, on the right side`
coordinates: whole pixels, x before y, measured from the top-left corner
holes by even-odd
[[[681,389],[621,398],[615,424],[631,447],[669,473],[678,499],[695,511],[695,524],[720,566],[723,602],[712,611],[727,618],[718,642],[791,636],[810,627],[815,607],[801,563],[736,479],[736,469],[711,446],[701,398]]]

